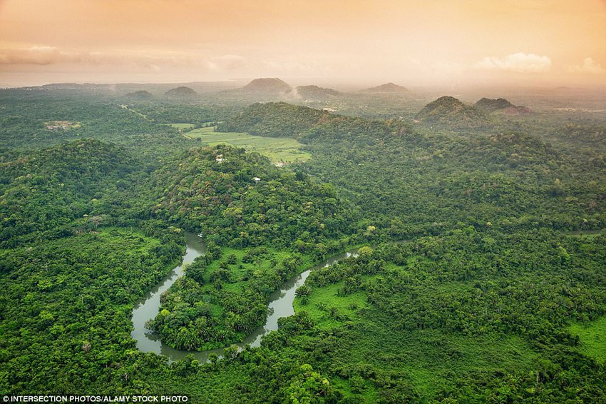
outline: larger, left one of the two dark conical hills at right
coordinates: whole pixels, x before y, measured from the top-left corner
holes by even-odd
[[[428,103],[416,114],[419,121],[452,127],[475,127],[487,123],[486,113],[451,96]]]

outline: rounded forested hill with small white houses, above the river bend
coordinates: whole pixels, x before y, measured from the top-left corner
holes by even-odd
[[[282,171],[242,148],[191,149],[160,168],[154,181],[160,198],[155,216],[221,245],[290,247],[299,241],[322,256],[326,243],[351,233],[354,220],[332,186]]]

